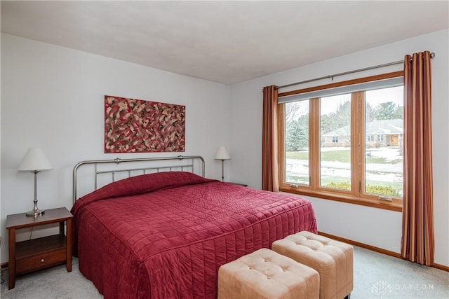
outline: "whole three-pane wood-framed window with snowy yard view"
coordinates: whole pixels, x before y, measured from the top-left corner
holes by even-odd
[[[279,93],[284,192],[400,209],[402,72]],[[292,95],[293,94],[293,95]]]

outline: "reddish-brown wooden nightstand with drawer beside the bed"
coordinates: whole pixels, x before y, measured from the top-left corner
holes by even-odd
[[[8,215],[9,235],[8,289],[14,288],[15,276],[65,263],[72,271],[72,218],[66,208],[47,209],[41,216],[25,213]],[[15,230],[59,223],[59,234],[15,242]],[[64,224],[66,223],[66,234]]]

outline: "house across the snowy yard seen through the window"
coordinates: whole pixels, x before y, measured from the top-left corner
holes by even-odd
[[[373,120],[366,125],[366,147],[402,146],[402,119]],[[321,147],[349,147],[351,146],[351,128],[349,125],[341,127],[321,136]]]

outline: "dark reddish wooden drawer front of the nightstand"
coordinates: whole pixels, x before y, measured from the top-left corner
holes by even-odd
[[[55,251],[41,253],[27,258],[18,258],[15,260],[15,271],[17,274],[23,274],[34,270],[51,267],[53,265],[63,264],[67,259],[65,248]]]

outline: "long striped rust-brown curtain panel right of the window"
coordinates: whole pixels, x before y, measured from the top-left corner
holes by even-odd
[[[434,264],[430,53],[404,59],[404,194],[401,254]]]

